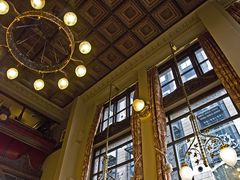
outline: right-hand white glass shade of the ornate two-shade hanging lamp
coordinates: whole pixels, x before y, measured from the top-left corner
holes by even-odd
[[[227,165],[234,167],[237,163],[237,153],[235,149],[225,144],[220,148],[220,157]]]

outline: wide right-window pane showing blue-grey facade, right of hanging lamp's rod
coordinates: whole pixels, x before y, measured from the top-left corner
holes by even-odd
[[[195,113],[201,129],[216,124],[236,114],[237,111],[229,97],[210,104]]]

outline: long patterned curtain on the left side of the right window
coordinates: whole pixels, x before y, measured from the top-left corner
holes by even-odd
[[[148,74],[150,88],[150,107],[153,125],[154,146],[156,153],[157,179],[167,180],[169,174],[165,173],[166,167],[166,116],[163,108],[159,73],[156,67]]]

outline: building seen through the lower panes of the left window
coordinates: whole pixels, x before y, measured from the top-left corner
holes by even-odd
[[[132,137],[128,135],[111,142],[108,151],[108,179],[130,180],[134,176]],[[93,180],[103,177],[103,156],[105,147],[98,148],[94,153]]]

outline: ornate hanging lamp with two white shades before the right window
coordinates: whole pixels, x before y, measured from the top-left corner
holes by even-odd
[[[176,46],[170,43],[172,56],[174,59],[174,63],[177,65],[177,59],[175,56],[175,51],[177,50]],[[178,69],[178,68],[177,68]],[[178,70],[179,71],[179,70]],[[180,74],[180,72],[178,72]],[[207,153],[210,154],[211,158],[218,156],[218,154],[215,152],[211,152],[210,150],[217,147],[220,158],[224,163],[227,165],[234,167],[237,163],[237,153],[235,149],[233,149],[229,144],[226,144],[224,140],[221,137],[209,135],[206,131],[206,133],[202,133],[199,129],[197,118],[194,115],[191,104],[186,92],[185,85],[181,79],[181,77],[178,78],[180,86],[182,87],[185,100],[187,103],[187,108],[189,110],[189,120],[191,122],[191,126],[193,129],[193,140],[188,140],[190,143],[190,146],[185,152],[184,155],[184,163],[182,163],[179,174],[183,180],[192,180],[194,173],[192,168],[187,163],[186,159],[187,157],[190,158],[192,155],[195,158],[195,163],[199,164],[201,161],[203,162],[205,167],[209,166],[208,159],[207,159]],[[219,146],[220,144],[220,146]]]

